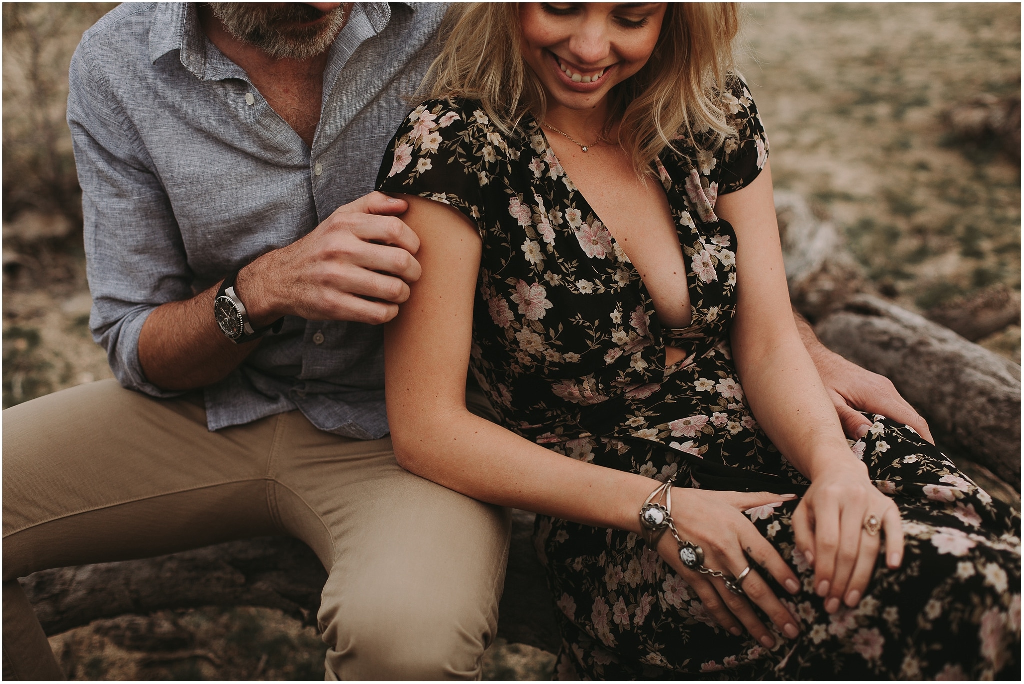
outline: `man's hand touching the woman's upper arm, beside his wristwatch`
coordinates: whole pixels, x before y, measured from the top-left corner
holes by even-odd
[[[398,216],[408,205],[371,193],[340,207],[294,244],[239,274],[253,327],[282,315],[383,324],[420,279],[420,240]]]

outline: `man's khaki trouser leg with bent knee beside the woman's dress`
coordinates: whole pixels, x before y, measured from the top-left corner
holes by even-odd
[[[402,470],[389,438],[339,445],[290,420],[283,441],[301,456],[275,475],[281,518],[330,570],[317,615],[328,679],[479,679],[509,511]]]

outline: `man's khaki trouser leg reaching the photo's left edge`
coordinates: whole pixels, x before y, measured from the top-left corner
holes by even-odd
[[[279,422],[211,433],[195,397],[114,381],[3,412],[5,676],[60,676],[17,578],[280,533],[266,479]]]

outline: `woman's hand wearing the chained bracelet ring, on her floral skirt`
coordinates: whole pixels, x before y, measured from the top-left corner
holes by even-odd
[[[683,565],[679,558],[679,544],[671,530],[665,533],[657,547],[662,558],[693,588],[705,608],[722,627],[736,636],[742,634],[740,626],[745,627],[766,648],[773,647],[775,639],[748,599],[761,607],[778,631],[787,638],[796,638],[800,634],[800,628],[797,618],[758,571],[764,568],[770,572],[791,594],[800,591],[800,581],[775,547],[761,536],[743,512],[793,499],[794,495],[767,491],[744,494],[673,487],[672,518],[676,529],[684,542],[695,544],[703,550],[705,567],[718,570],[731,579],[738,578],[751,564],[748,556],[761,566],[759,568],[752,565],[742,583],[745,598],[730,592],[722,580]]]

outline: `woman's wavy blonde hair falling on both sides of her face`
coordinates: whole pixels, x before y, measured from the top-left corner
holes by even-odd
[[[444,47],[421,93],[479,100],[506,133],[527,113],[543,121],[544,88],[522,58],[519,27],[518,3],[453,5]],[[648,173],[673,140],[693,142],[697,133],[710,132],[711,145],[718,146],[735,135],[720,97],[733,70],[738,29],[734,3],[669,3],[650,59],[611,93],[622,117],[618,140],[638,174]]]

